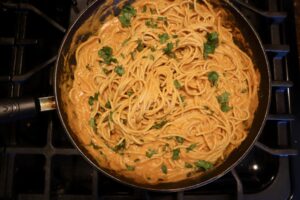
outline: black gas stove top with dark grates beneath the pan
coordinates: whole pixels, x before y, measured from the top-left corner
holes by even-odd
[[[300,199],[299,156],[294,150],[300,146],[300,71],[293,0],[239,2],[245,3],[237,6],[267,52],[272,100],[259,142],[234,170],[185,192],[134,189],[90,166],[70,143],[56,112],[50,111],[0,124],[0,199]],[[67,27],[88,4],[0,2],[0,98],[53,95],[58,48]]]

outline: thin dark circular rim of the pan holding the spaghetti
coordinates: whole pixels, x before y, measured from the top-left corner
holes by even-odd
[[[70,36],[72,37],[72,35],[70,35],[70,33],[72,31],[74,31],[74,27],[79,23],[80,19],[82,19],[85,15],[89,15],[90,14],[88,13],[88,11],[90,9],[92,9],[92,7],[96,6],[99,1],[94,1],[93,3],[91,3],[86,9],[84,9],[80,15],[78,16],[78,18],[73,22],[73,24],[68,28],[68,31],[66,32],[63,40],[62,40],[62,43],[61,43],[61,46],[59,48],[59,51],[58,51],[58,58],[56,60],[56,63],[55,63],[55,70],[54,70],[54,84],[53,84],[53,88],[54,88],[54,96],[55,96],[55,101],[56,101],[56,104],[57,104],[57,114],[59,116],[59,119],[60,119],[60,122],[66,132],[66,134],[68,135],[69,139],[71,140],[72,144],[74,145],[74,147],[80,152],[80,154],[82,155],[82,157],[85,158],[85,160],[87,160],[90,164],[92,164],[93,167],[95,167],[97,170],[99,170],[102,174],[108,176],[109,178],[112,178],[113,180],[116,180],[117,182],[119,183],[122,183],[122,184],[125,184],[125,185],[128,185],[128,186],[131,186],[131,187],[134,187],[134,188],[139,188],[139,189],[143,189],[143,190],[148,190],[148,191],[156,191],[156,192],[181,192],[181,191],[186,191],[186,190],[191,190],[191,189],[195,189],[195,188],[199,188],[201,186],[204,186],[204,185],[207,185],[219,178],[221,178],[222,176],[224,176],[225,174],[227,174],[228,172],[232,171],[248,154],[249,152],[252,150],[253,146],[255,145],[255,143],[257,142],[264,126],[265,126],[265,123],[267,121],[267,115],[269,113],[269,108],[270,108],[270,99],[271,99],[271,72],[270,72],[270,66],[269,66],[269,62],[268,62],[268,58],[267,58],[267,55],[266,55],[266,52],[263,48],[263,44],[262,44],[262,41],[258,35],[258,33],[255,31],[255,29],[253,28],[253,26],[250,24],[250,22],[248,21],[248,19],[241,13],[241,11],[233,5],[233,3],[231,3],[229,0],[224,0],[224,2],[230,7],[232,8],[235,12],[236,12],[236,15],[241,18],[241,20],[243,20],[245,22],[245,26],[248,26],[248,28],[252,31],[253,35],[255,36],[255,38],[257,39],[257,45],[259,46],[259,49],[262,53],[262,56],[264,58],[264,61],[265,61],[265,65],[266,65],[266,71],[267,71],[267,74],[268,74],[268,92],[266,92],[266,95],[267,98],[265,99],[267,101],[267,105],[265,107],[265,111],[264,111],[264,115],[263,115],[263,120],[260,121],[260,127],[255,135],[255,137],[253,138],[252,141],[250,141],[250,144],[247,146],[246,150],[244,152],[242,152],[237,159],[234,159],[234,162],[232,164],[229,165],[229,167],[227,167],[226,169],[222,170],[221,172],[218,172],[216,175],[206,179],[206,180],[203,180],[203,181],[200,181],[199,183],[196,183],[196,184],[191,184],[189,186],[184,186],[184,187],[177,187],[177,188],[168,188],[168,189],[160,189],[160,188],[154,188],[152,186],[155,186],[155,185],[149,185],[150,187],[146,187],[146,186],[143,186],[143,185],[139,185],[137,183],[132,183],[132,182],[128,182],[128,181],[124,181],[122,179],[119,179],[118,177],[110,174],[109,172],[105,171],[103,168],[101,168],[100,166],[98,166],[97,164],[95,164],[95,162],[93,162],[93,160],[87,156],[83,150],[82,150],[82,147],[76,143],[74,137],[72,136],[71,132],[69,131],[69,128],[67,127],[67,120],[64,119],[64,116],[62,114],[63,112],[63,106],[61,105],[61,100],[59,99],[59,80],[58,80],[58,68],[59,68],[59,61],[62,58],[62,52],[63,52],[63,49],[64,49],[64,46],[66,44],[66,41],[70,38]],[[241,144],[242,145],[242,144]],[[239,148],[239,147],[238,147]]]

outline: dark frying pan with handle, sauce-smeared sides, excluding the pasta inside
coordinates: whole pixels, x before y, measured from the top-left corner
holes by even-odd
[[[89,36],[93,35],[93,33],[97,31],[99,26],[101,26],[106,19],[112,15],[118,15],[120,7],[128,3],[131,2],[99,0],[93,2],[84,12],[82,12],[79,18],[68,30],[59,50],[54,73],[55,101],[54,98],[51,97],[40,98],[37,100],[0,100],[0,120],[9,120],[16,116],[19,117],[34,113],[36,110],[47,110],[56,107],[61,123],[74,146],[91,163],[91,165],[112,179],[130,186],[154,191],[182,191],[208,184],[229,172],[246,156],[259,137],[265,124],[270,105],[271,88],[270,70],[262,43],[247,19],[231,2],[226,0],[211,1],[211,3],[216,4],[216,6],[221,6],[226,13],[228,13],[228,21],[230,21],[232,26],[237,27],[240,30],[236,36],[238,36],[238,34],[244,36],[244,40],[239,40],[238,37],[236,38],[237,45],[250,54],[254,65],[261,76],[261,82],[259,85],[259,105],[255,112],[249,134],[243,143],[234,150],[221,165],[207,173],[204,173],[201,177],[186,179],[176,183],[162,183],[158,185],[140,184],[123,177],[110,169],[99,167],[94,158],[88,154],[83,145],[79,142],[76,137],[76,133],[73,132],[65,109],[66,104],[68,103],[66,101],[67,91],[74,79],[73,73],[75,68],[74,66],[76,65],[74,54],[76,47],[80,43],[86,41]]]

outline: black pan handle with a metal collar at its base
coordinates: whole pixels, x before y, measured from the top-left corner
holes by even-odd
[[[0,99],[0,122],[33,117],[40,111],[54,110],[55,99],[51,97]]]

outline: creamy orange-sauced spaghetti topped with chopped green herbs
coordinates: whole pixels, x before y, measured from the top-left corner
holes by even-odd
[[[78,46],[69,118],[99,166],[176,182],[243,142],[260,76],[225,24],[207,1],[138,0]]]

